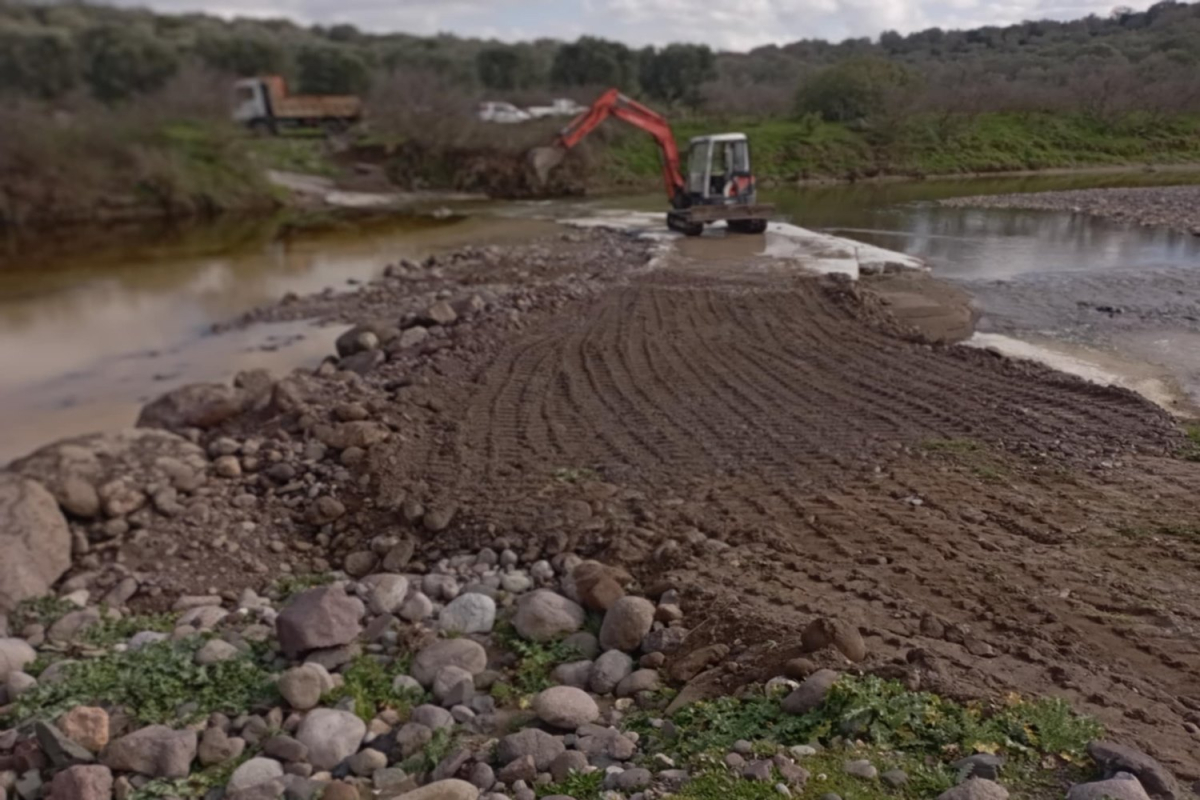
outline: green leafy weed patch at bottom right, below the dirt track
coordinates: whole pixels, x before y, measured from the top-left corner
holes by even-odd
[[[916,800],[936,796],[953,786],[955,771],[950,763],[980,752],[1006,756],[1006,786],[1014,781],[1016,787],[1045,786],[1058,792],[1064,776],[1075,776],[1088,763],[1087,742],[1103,733],[1098,723],[1076,716],[1060,699],[1010,697],[998,704],[962,705],[874,676],[842,678],[823,706],[800,716],[784,712],[778,696],[758,690],[742,698],[696,703],[678,711],[672,722],[678,734],[668,739],[649,724],[647,714],[635,712],[629,718],[629,726],[643,738],[643,752],[666,753],[676,764],[702,776],[739,739],[755,744],[760,753],[818,742],[828,750],[803,759],[802,765],[814,774],[814,780],[800,796],[815,799],[835,792],[844,800],[880,796],[877,786],[844,774],[846,760],[869,758],[881,772],[905,770],[910,783],[889,793]],[[856,744],[847,747],[845,742]],[[827,778],[817,780],[818,774]],[[726,787],[720,775],[696,783],[680,795],[709,800],[736,793],[739,800],[758,800],[754,794],[758,789]]]

